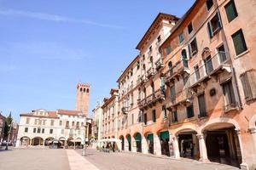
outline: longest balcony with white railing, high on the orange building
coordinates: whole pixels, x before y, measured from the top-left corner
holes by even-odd
[[[223,71],[231,72],[230,55],[226,52],[218,52],[210,59],[205,60],[204,64],[190,75],[190,88],[195,88],[201,82],[207,81],[212,76],[216,76]]]

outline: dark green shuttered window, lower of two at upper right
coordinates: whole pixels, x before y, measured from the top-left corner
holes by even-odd
[[[236,31],[236,33],[232,35],[232,39],[236,49],[236,55],[239,55],[247,50],[247,44],[245,42],[245,39],[241,30]]]

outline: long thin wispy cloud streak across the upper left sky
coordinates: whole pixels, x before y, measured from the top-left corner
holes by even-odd
[[[74,19],[66,16],[57,15],[57,14],[45,14],[45,13],[37,13],[37,12],[30,12],[30,11],[14,10],[14,9],[7,9],[7,10],[0,9],[0,14],[15,16],[15,17],[33,18],[37,20],[70,22],[70,23],[79,23],[79,24],[86,24],[90,26],[100,26],[100,27],[113,28],[113,29],[124,29],[124,27],[122,26],[102,24],[92,20],[79,20],[79,19]]]

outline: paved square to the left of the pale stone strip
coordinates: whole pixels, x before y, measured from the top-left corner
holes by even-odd
[[[70,170],[66,150],[0,150],[0,170]]]

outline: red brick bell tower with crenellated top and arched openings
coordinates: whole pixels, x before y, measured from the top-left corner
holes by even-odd
[[[77,104],[76,110],[82,111],[88,116],[90,99],[90,84],[79,82],[77,86]]]

